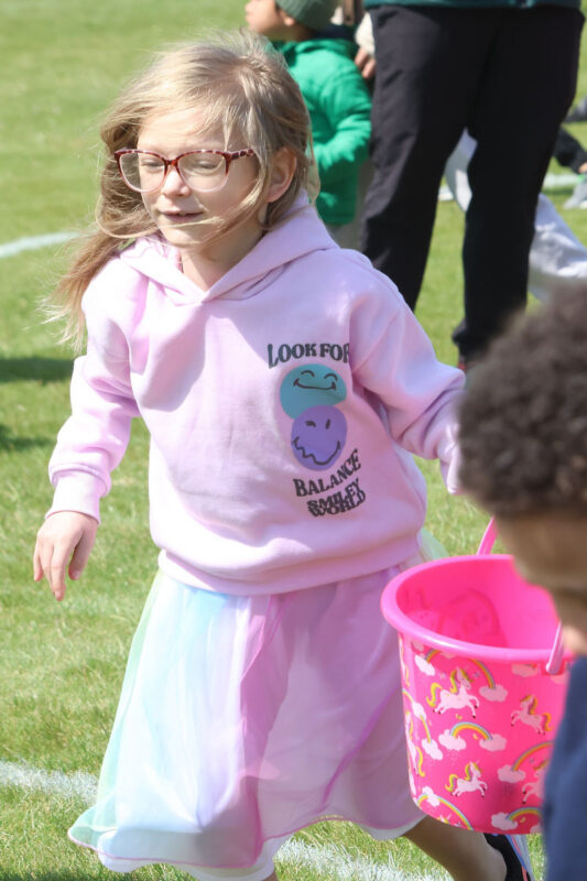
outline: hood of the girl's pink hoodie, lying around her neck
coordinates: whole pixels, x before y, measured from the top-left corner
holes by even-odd
[[[217,297],[247,300],[272,284],[284,268],[313,251],[337,248],[305,193],[283,219],[254,248],[207,291],[181,270],[180,249],[161,236],[149,236],[122,251],[119,259],[141,275],[161,284],[178,305],[205,303]]]

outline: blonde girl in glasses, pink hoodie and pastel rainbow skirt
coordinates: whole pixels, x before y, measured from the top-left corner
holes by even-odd
[[[418,553],[412,454],[448,469],[461,373],[325,231],[304,102],[258,39],[162,55],[102,139],[99,229],[62,286],[87,354],[34,577],[61,600],[81,574],[139,415],[161,553],[97,803],[70,837],[119,872],[262,881],[293,831],[346,818],[406,834],[458,881],[504,881],[504,838],[411,801],[379,612]]]

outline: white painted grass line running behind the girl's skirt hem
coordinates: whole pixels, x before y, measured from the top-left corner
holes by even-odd
[[[97,780],[91,774],[76,771],[43,771],[25,762],[0,760],[0,787],[18,786],[22,790],[43,792],[47,795],[78,797],[90,804],[96,795]],[[367,857],[346,853],[333,845],[307,845],[292,839],[283,845],[276,857],[278,868],[298,867],[329,881],[405,881],[405,872],[390,858],[388,863],[374,863]],[[441,874],[411,874],[410,881],[441,881]]]

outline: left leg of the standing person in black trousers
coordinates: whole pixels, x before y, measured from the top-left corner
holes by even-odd
[[[415,306],[445,162],[466,124],[491,34],[469,10],[371,12],[377,76],[361,250]]]

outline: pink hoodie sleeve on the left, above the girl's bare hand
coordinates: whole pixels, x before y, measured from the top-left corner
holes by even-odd
[[[96,282],[83,302],[88,345],[74,365],[72,415],[57,435],[48,466],[55,487],[48,513],[78,511],[99,520],[99,499],[110,490],[110,474],[124,455],[131,420],[139,412],[127,340],[107,317],[105,289]]]

